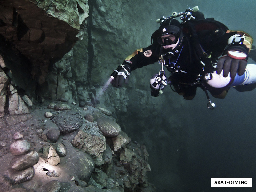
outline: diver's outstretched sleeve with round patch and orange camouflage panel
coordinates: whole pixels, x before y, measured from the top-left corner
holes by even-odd
[[[131,66],[131,70],[153,64],[158,61],[157,46],[150,45],[146,48],[137,49],[125,58],[124,63]]]

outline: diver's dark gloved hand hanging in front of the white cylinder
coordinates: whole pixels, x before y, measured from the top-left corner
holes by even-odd
[[[228,55],[224,55],[218,60],[216,72],[220,74],[223,70],[223,77],[227,77],[230,72],[230,77],[234,78],[236,73],[238,75],[244,74],[246,65],[247,61],[245,59],[234,59]]]

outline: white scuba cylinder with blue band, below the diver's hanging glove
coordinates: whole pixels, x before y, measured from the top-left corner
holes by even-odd
[[[256,83],[256,64],[247,64],[243,75],[236,76],[232,79],[229,74],[227,77],[223,77],[223,71],[220,75],[214,71],[205,75],[206,83],[211,87],[222,88],[222,87],[235,87],[238,85],[246,85],[250,83]]]

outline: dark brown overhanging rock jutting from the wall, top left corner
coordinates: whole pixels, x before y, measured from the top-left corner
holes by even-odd
[[[80,26],[84,26],[89,12],[87,0],[1,0],[0,9],[1,38],[28,58],[31,77],[38,84],[45,83],[49,65],[83,38],[84,28]],[[4,57],[8,54],[4,48],[1,54],[7,65],[15,62]]]

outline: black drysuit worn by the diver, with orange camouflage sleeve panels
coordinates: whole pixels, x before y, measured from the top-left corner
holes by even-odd
[[[228,51],[227,42],[231,36],[242,33],[251,41],[252,38],[241,31],[229,31],[225,25],[213,19],[191,21],[189,25],[183,25],[182,31],[182,43],[171,51],[156,43],[154,40],[154,34],[157,36],[158,33],[156,31],[152,35],[152,45],[136,50],[125,59],[124,64],[128,64],[132,71],[156,63],[162,54],[172,52],[171,56],[164,57],[164,66],[171,73],[169,79],[176,92],[189,100],[195,96],[196,88],[201,87],[204,90],[208,89],[214,97],[224,98],[228,88],[216,89],[198,83],[198,80],[202,80],[204,74],[214,70],[213,65],[218,57]],[[250,51],[250,45],[246,44],[236,45],[235,48],[247,54]]]

